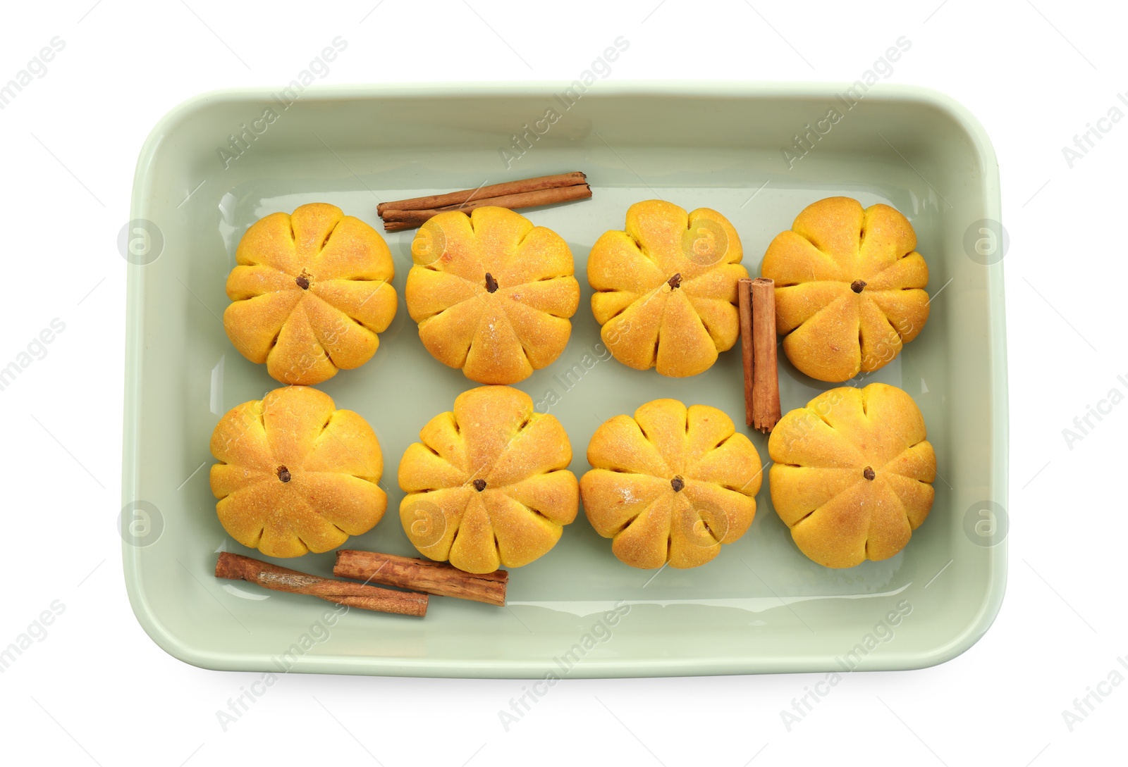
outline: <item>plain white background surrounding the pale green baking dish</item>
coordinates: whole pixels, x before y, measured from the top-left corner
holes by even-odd
[[[1110,390],[1128,393],[1117,380],[1128,380],[1128,121],[1107,123],[1073,168],[1063,146],[1114,105],[1128,114],[1117,99],[1128,89],[1126,19],[1060,0],[386,0],[373,10],[374,1],[6,8],[0,82],[52,37],[65,48],[0,110],[0,366],[53,318],[67,328],[0,392],[0,645],[53,600],[65,606],[0,675],[5,761],[21,752],[71,765],[1122,762],[1128,684],[1072,731],[1063,711],[1128,657],[1119,494],[1128,405],[1072,448],[1063,429]],[[844,82],[907,36],[913,47],[889,81],[962,101],[1002,168],[1011,572],[986,637],[938,668],[849,675],[790,732],[781,710],[822,675],[566,680],[509,732],[497,710],[521,681],[288,675],[223,732],[217,710],[258,675],[170,658],[125,596],[115,527],[125,261],[115,240],[138,152],[161,115],[201,91],[281,87],[337,35],[349,48],[321,82],[572,80],[619,35],[631,48],[616,80]]]

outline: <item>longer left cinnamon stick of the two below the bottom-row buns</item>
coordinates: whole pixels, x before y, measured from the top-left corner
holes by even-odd
[[[308,594],[326,601],[378,613],[397,613],[418,617],[426,615],[428,596],[425,594],[393,591],[367,583],[319,578],[230,552],[222,552],[219,555],[219,561],[215,562],[215,577],[245,580],[275,591]]]

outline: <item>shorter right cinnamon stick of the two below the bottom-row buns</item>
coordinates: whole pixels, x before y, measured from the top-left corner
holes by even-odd
[[[333,574],[442,597],[484,601],[499,607],[505,606],[505,587],[509,583],[509,572],[505,570],[475,574],[462,572],[446,562],[347,549],[337,552]]]

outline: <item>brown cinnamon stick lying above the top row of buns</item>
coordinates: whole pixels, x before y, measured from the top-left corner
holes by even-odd
[[[398,232],[422,226],[428,218],[446,211],[469,213],[476,207],[494,205],[511,209],[554,205],[591,197],[588,177],[579,170],[556,176],[539,176],[505,184],[481,186],[444,195],[413,197],[380,203],[376,212],[384,220],[384,231]]]

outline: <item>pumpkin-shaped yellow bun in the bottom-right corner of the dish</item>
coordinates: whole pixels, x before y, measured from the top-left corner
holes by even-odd
[[[828,568],[892,556],[932,509],[936,454],[920,410],[896,386],[823,392],[779,419],[768,454],[776,514]]]

